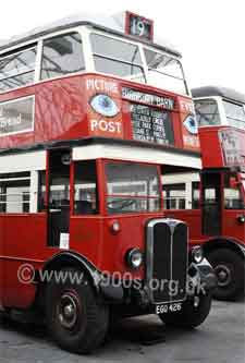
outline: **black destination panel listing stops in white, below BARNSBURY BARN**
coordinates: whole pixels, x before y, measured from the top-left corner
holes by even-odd
[[[161,145],[174,145],[170,113],[149,106],[131,105],[133,138]]]

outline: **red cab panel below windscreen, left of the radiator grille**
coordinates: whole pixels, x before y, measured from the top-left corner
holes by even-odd
[[[126,252],[132,247],[144,250],[144,227],[150,216],[118,215],[99,219],[96,217],[71,218],[71,250],[81,253],[101,271],[123,274],[127,270],[134,278],[143,278],[143,270],[131,270],[125,265]],[[119,233],[111,231],[119,221]]]

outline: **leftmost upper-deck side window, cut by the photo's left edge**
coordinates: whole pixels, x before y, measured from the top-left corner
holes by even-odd
[[[34,82],[36,46],[15,50],[0,57],[0,92],[22,87]]]

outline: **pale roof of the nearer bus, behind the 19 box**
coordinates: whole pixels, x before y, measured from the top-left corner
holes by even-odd
[[[124,24],[123,17],[118,16],[106,16],[101,14],[90,14],[90,13],[83,13],[76,14],[68,17],[63,17],[56,22],[49,23],[47,25],[36,27],[27,33],[22,35],[13,36],[8,40],[0,39],[0,52],[8,50],[9,48],[15,47],[26,41],[35,40],[38,37],[46,36],[50,33],[63,31],[65,28],[81,26],[81,25],[89,25],[94,28],[105,31],[114,35],[123,36],[132,40],[138,40],[149,46],[157,47],[163,51],[172,53],[175,57],[181,57],[181,53],[168,41],[159,38],[157,43],[151,43],[145,39],[137,39],[133,36],[126,35],[124,33]]]

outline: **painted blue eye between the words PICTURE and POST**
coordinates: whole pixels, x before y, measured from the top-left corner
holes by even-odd
[[[112,118],[119,113],[119,108],[115,101],[107,95],[96,95],[90,100],[93,109],[108,118]]]

